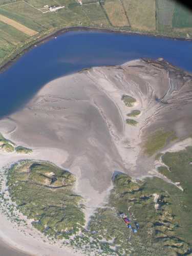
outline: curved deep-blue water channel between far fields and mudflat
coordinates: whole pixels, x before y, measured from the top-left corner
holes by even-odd
[[[83,68],[163,57],[192,72],[192,42],[104,32],[68,32],[34,47],[0,74],[0,117],[22,106],[48,81]]]

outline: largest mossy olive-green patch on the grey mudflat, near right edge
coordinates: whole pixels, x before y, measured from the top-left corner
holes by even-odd
[[[175,132],[158,130],[148,136],[144,143],[144,153],[148,156],[153,156],[158,150],[161,150],[166,145],[168,140],[173,139],[176,139]]]

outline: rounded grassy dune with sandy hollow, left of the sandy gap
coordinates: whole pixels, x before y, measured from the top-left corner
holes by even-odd
[[[84,224],[84,214],[73,193],[75,176],[45,162],[22,161],[9,170],[11,199],[34,227],[53,237],[75,233]]]

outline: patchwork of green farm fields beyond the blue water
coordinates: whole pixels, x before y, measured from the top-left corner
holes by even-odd
[[[46,12],[47,5],[65,8]],[[37,32],[29,36],[0,21],[0,67],[37,39],[66,27],[192,38],[191,12],[169,0],[82,0],[82,5],[76,0],[0,0],[0,15]]]

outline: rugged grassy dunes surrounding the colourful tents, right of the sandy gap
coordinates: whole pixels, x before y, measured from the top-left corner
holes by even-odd
[[[116,246],[118,255],[188,255],[191,204],[186,201],[179,188],[159,178],[136,181],[118,174],[109,204],[96,211],[90,229],[98,239]],[[127,214],[133,228],[139,223],[137,233],[126,227],[120,212]]]

